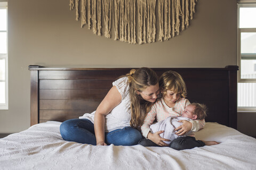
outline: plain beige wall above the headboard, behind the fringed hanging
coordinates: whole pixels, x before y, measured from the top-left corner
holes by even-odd
[[[9,0],[9,110],[0,133],[30,124],[28,65],[56,67],[224,67],[236,65],[236,1],[201,0],[194,20],[164,43],[130,45],[81,28],[69,1]]]

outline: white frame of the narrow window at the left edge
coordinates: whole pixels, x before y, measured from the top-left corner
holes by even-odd
[[[7,9],[7,2],[0,2],[0,8],[1,9]],[[8,12],[6,15],[6,18],[8,19]],[[8,22],[8,20],[6,19],[6,22]],[[0,54],[0,58],[1,59],[5,59],[5,104],[0,104],[0,110],[7,110],[8,107],[8,23],[6,23],[6,31],[1,31],[1,32],[6,32],[6,45],[7,45],[7,52],[6,54]]]

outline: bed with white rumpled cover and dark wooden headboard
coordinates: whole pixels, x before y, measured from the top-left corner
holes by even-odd
[[[111,82],[130,69],[29,66],[31,126],[0,139],[0,169],[256,169],[256,139],[236,130],[237,66],[153,68],[158,75],[167,70],[182,75],[190,102],[209,108],[196,138],[219,145],[177,151],[64,141],[61,122],[93,112]]]

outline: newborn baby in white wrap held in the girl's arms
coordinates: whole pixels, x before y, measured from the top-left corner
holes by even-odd
[[[161,122],[157,122],[155,124],[150,125],[151,132],[155,133],[158,131],[164,131],[159,135],[162,138],[170,140],[170,141],[163,141],[168,145],[170,145],[170,143],[178,137],[193,136],[194,133],[192,131],[189,131],[184,135],[178,136],[177,134],[175,134],[176,131],[174,131],[174,129],[182,125],[182,122],[179,122],[181,120],[186,120],[186,121],[203,120],[206,116],[206,109],[207,109],[206,106],[203,104],[198,104],[198,103],[189,104],[181,114],[182,116],[179,116],[179,117],[170,116]]]

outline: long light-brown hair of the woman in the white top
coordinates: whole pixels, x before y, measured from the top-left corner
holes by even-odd
[[[142,92],[149,86],[154,86],[158,83],[157,74],[148,67],[140,69],[132,69],[129,74],[126,74],[129,81],[129,94],[131,98],[131,121],[132,128],[138,128],[145,118],[154,103],[144,100],[137,91]]]

